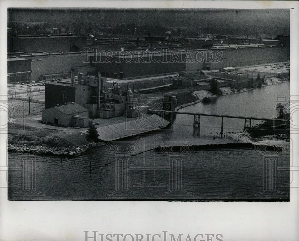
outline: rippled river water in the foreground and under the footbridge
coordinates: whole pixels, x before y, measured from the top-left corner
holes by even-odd
[[[211,103],[198,103],[181,111],[273,118],[278,97],[289,96],[289,82],[220,96]],[[280,101],[281,102],[281,101]],[[258,124],[260,122],[254,122]],[[223,131],[239,132],[244,120],[224,119]],[[35,160],[35,182],[21,190],[13,184],[26,182],[20,154],[8,154],[10,200],[288,200],[289,172],[278,172],[277,195],[255,195],[264,189],[264,154],[253,148],[201,151],[143,152],[157,145],[205,145],[233,143],[220,139],[221,118],[202,116],[200,133],[193,116],[178,114],[171,127],[93,149],[73,159],[22,157]],[[141,152],[140,154],[138,154]],[[278,168],[289,166],[289,153],[267,151]],[[117,161],[115,161],[117,160]],[[122,161],[119,161],[122,160]],[[124,161],[126,160],[126,161]],[[23,179],[22,179],[23,178]],[[24,181],[25,180],[25,181]],[[28,179],[29,180],[29,179]],[[176,180],[176,181],[174,181]],[[34,184],[34,185],[33,185]],[[119,185],[119,186],[118,186]],[[117,190],[117,192],[115,192]],[[20,192],[21,191],[21,192]],[[19,193],[20,194],[16,194]]]

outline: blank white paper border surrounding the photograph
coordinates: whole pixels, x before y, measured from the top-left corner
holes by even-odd
[[[3,81],[7,79],[7,7],[53,6],[293,8],[290,14],[290,94],[298,95],[298,1],[0,1],[0,95],[7,94]],[[3,118],[5,116],[1,116]],[[0,134],[0,138],[3,150],[6,137]],[[299,166],[298,134],[291,138],[293,166]],[[6,158],[2,151],[0,166],[6,163]],[[294,174],[298,180],[298,172]],[[0,178],[1,183],[6,182],[3,173]],[[196,234],[222,234],[223,240],[298,240],[299,235],[298,188],[290,188],[290,202],[7,201],[7,189],[0,188],[0,192],[3,241],[85,240],[84,230],[97,230],[98,234],[143,235],[169,231],[175,237],[183,234],[184,240],[187,234],[192,238]],[[200,236],[198,238],[200,240]]]

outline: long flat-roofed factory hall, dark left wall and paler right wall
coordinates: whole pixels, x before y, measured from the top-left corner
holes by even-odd
[[[218,57],[221,58],[216,60],[217,52]],[[129,79],[184,71],[199,72],[200,70],[215,70],[230,66],[273,63],[289,59],[289,49],[276,47],[276,44],[274,46],[264,44],[215,46],[210,50],[147,51],[144,53],[144,57],[140,57],[138,53],[128,53],[124,52],[119,56],[113,56],[113,61],[110,63],[103,61],[91,63],[91,65],[96,68],[96,72],[101,72],[105,77]],[[96,56],[95,59],[99,59],[99,57]]]

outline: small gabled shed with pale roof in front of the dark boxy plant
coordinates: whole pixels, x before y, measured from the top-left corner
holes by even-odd
[[[64,104],[42,110],[42,122],[59,126],[78,126],[88,125],[88,110],[76,103]]]

